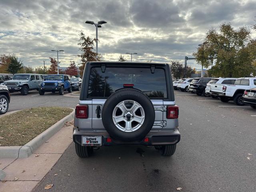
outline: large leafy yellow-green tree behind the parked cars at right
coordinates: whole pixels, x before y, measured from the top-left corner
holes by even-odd
[[[253,60],[250,59],[250,30],[240,27],[235,30],[230,23],[224,23],[219,30],[214,28],[206,33],[205,42],[196,53],[196,61],[208,68],[213,61],[213,76],[243,77],[253,72]],[[255,50],[252,50],[255,53]]]

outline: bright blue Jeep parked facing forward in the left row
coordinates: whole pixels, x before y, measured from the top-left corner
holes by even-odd
[[[64,94],[64,90],[72,92],[72,84],[69,75],[47,75],[46,80],[40,83],[38,88],[39,94],[44,95],[45,92],[56,92],[60,95]]]

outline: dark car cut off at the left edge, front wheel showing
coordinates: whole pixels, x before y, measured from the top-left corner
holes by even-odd
[[[10,100],[11,96],[7,86],[0,85],[0,115],[8,111]]]

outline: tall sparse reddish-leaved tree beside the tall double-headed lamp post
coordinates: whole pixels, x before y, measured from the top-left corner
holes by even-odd
[[[81,51],[81,54],[78,54],[81,57],[81,66],[79,69],[83,72],[86,62],[88,61],[101,61],[102,55],[95,52],[94,42],[96,39],[92,39],[89,36],[85,36],[84,32],[79,31],[78,35],[80,36],[78,45],[80,48],[78,50]]]

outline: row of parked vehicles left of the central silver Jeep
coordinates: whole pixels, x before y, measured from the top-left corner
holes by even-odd
[[[80,90],[81,78],[64,74],[52,74],[44,77],[42,74],[0,74],[0,114],[7,112],[10,103],[10,93],[21,92],[27,95],[30,90],[38,90],[40,95],[45,92],[72,92]]]

